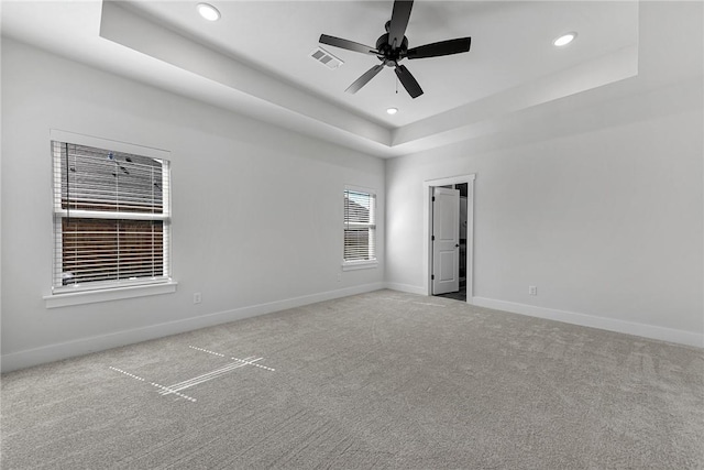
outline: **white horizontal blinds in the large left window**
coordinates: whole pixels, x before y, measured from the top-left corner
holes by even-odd
[[[53,292],[166,282],[169,162],[52,141]]]

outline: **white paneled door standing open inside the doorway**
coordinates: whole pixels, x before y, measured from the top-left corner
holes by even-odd
[[[432,188],[432,294],[460,289],[460,192]]]

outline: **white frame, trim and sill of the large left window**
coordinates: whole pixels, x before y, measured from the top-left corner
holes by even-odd
[[[54,151],[54,142],[77,144],[109,150],[133,155],[146,156],[150,159],[166,162],[162,166],[162,181],[167,184],[162,185],[162,214],[145,212],[102,212],[92,210],[70,209],[62,207],[62,188],[63,182],[56,182],[57,159]],[[172,247],[170,247],[170,226],[172,226],[172,195],[170,195],[170,152],[147,147],[125,142],[95,138],[85,134],[77,134],[59,130],[50,131],[50,146],[52,154],[52,288],[51,295],[44,296],[47,308],[61,307],[67,305],[77,305],[84,303],[114,300],[119,298],[140,297],[145,295],[165,294],[176,291],[176,285],[172,278]],[[59,162],[61,163],[61,162]],[[56,187],[56,185],[59,185]],[[58,193],[57,193],[58,192]],[[58,194],[58,196],[57,196]],[[109,280],[87,282],[78,286],[59,286],[56,282],[56,273],[63,271],[63,221],[67,218],[97,218],[105,220],[161,220],[162,223],[162,258],[163,258],[163,275],[157,277],[138,277],[135,280]],[[58,271],[57,271],[58,270]]]

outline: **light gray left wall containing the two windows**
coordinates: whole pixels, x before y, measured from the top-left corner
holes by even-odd
[[[3,370],[383,286],[380,159],[8,39],[2,124]],[[45,307],[50,129],[170,151],[175,294]],[[345,184],[377,192],[376,269],[341,271]]]

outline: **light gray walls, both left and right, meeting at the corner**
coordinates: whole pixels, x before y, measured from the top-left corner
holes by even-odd
[[[636,78],[386,162],[3,39],[3,370],[383,286],[420,292],[424,182],[464,174],[476,304],[702,346],[703,8],[641,2]],[[172,152],[176,293],[46,308],[50,129]],[[376,269],[341,271],[345,184],[377,190]]]

